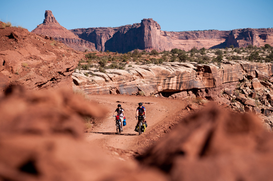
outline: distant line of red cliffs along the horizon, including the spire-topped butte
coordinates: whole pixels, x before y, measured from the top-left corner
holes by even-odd
[[[236,29],[232,31],[162,31],[152,18],[144,18],[140,23],[120,27],[80,28],[67,30],[60,26],[51,11],[45,12],[45,19],[32,33],[51,36],[77,50],[96,49],[126,53],[135,49],[170,51],[174,48],[191,50],[206,48],[273,46],[273,29]]]

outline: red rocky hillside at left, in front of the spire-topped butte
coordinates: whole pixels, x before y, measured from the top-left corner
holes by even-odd
[[[48,36],[35,35],[11,25],[1,27],[1,91],[15,83],[33,90],[71,86],[71,74],[84,56],[82,53]]]

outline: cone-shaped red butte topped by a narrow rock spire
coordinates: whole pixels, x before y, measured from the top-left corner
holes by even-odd
[[[96,50],[94,43],[83,40],[75,34],[71,33],[69,30],[62,27],[53,16],[52,12],[49,10],[45,11],[43,23],[39,24],[37,28],[35,28],[31,32],[34,34],[52,37],[55,40],[61,41],[62,43],[75,50]]]

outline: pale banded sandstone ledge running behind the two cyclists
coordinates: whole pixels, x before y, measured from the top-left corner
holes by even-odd
[[[166,63],[162,66],[139,66],[128,70],[90,73],[93,76],[87,77],[79,72],[72,74],[75,85],[86,93],[136,94],[142,90],[149,95],[158,92],[224,88],[225,85],[243,80],[249,73],[252,73],[253,78],[272,76],[273,66],[271,63],[247,61],[226,62],[219,67],[214,64]],[[204,90],[202,96],[215,95]]]

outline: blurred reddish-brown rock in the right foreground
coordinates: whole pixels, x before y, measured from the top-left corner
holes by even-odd
[[[270,181],[272,144],[273,135],[256,117],[210,105],[181,121],[138,160],[172,181]]]

